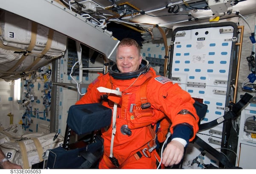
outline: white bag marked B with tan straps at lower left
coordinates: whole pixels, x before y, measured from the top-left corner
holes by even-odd
[[[49,149],[62,146],[64,138],[58,135],[53,141],[55,135],[55,133],[25,134],[21,136],[20,140],[10,138],[10,141],[0,145],[0,149],[10,162],[29,169],[33,164],[43,161],[43,156],[48,153]]]

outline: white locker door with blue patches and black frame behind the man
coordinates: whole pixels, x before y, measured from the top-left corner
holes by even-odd
[[[172,35],[169,78],[198,101],[207,104],[208,110],[201,123],[223,116],[232,96],[234,50],[237,27],[233,22],[176,28]],[[226,130],[221,123],[198,136],[216,149],[225,146]],[[200,147],[189,143],[183,168],[203,168],[201,164],[218,166],[214,157],[200,155]],[[199,156],[198,156],[199,155]],[[198,162],[191,165],[198,157]]]

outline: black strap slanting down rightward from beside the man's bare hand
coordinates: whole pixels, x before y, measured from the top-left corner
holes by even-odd
[[[236,166],[230,163],[230,160],[226,157],[226,155],[218,152],[216,149],[204,142],[204,140],[199,138],[197,135],[195,135],[194,142],[197,143],[205,151],[209,152],[209,154],[211,154],[213,157],[218,159],[219,162],[222,163],[226,168],[236,168]]]

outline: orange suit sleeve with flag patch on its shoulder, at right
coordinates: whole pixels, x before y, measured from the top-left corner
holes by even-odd
[[[150,87],[147,88],[147,93],[154,93],[149,97],[149,101],[153,107],[161,110],[171,120],[172,125],[170,131],[173,134],[174,128],[177,125],[183,124],[192,129],[192,135],[189,141],[195,138],[198,132],[199,117],[196,113],[194,99],[185,90],[181,89],[178,84],[173,84],[170,79],[158,76],[159,79],[163,78],[164,81],[156,78],[151,79],[149,82]],[[191,114],[179,114],[182,109],[186,109]]]

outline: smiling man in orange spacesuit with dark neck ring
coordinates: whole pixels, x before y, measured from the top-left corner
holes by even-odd
[[[98,87],[118,90],[122,95],[100,92]],[[112,109],[111,126],[102,129],[104,154],[99,168],[145,169],[157,168],[160,161],[161,168],[180,163],[184,147],[198,132],[194,102],[178,84],[157,75],[134,39],[125,38],[117,47],[116,65],[108,73],[100,73],[76,104],[102,103]],[[168,126],[158,129],[157,122],[162,120],[165,125],[168,120]],[[172,136],[160,160],[157,132],[164,129]]]

